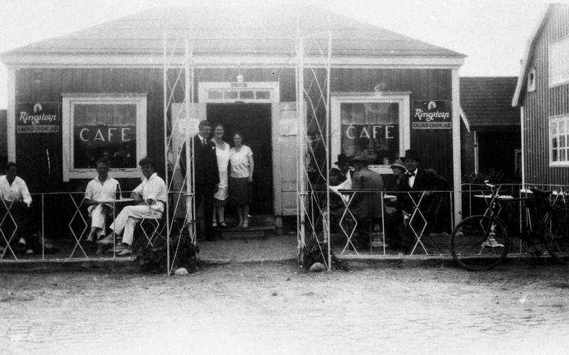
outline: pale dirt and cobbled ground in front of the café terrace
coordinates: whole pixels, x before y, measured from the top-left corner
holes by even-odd
[[[229,263],[170,278],[0,271],[0,354],[555,354],[569,345],[569,266],[351,266]]]

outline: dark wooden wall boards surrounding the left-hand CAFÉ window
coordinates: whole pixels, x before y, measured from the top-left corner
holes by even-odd
[[[147,92],[147,153],[156,159],[156,170],[164,175],[164,121],[162,70],[129,68],[22,69],[16,70],[16,104],[19,102],[59,102],[63,92]],[[27,135],[38,138],[31,146],[26,138],[16,135],[18,161],[48,165],[40,176],[33,165],[18,164],[35,192],[74,190],[74,184],[63,184],[62,133]],[[45,136],[45,137],[41,137]],[[48,150],[48,154],[46,154]],[[49,157],[49,158],[48,158]],[[31,160],[30,160],[31,159]],[[49,159],[49,161],[47,161]],[[45,171],[44,171],[45,170]],[[46,175],[46,172],[48,175]]]

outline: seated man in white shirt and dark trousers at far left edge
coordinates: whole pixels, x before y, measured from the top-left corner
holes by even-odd
[[[30,234],[29,207],[31,195],[28,185],[18,177],[18,167],[14,162],[6,163],[4,170],[6,175],[0,176],[0,220],[4,218],[7,211],[16,222],[18,250],[33,253],[31,244],[38,243],[33,240]],[[4,220],[3,228],[9,228],[10,223]],[[4,233],[9,238],[9,233]]]

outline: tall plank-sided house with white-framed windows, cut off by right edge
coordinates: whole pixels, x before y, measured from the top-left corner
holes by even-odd
[[[521,107],[523,183],[569,185],[569,6],[548,5],[528,39],[512,105]]]

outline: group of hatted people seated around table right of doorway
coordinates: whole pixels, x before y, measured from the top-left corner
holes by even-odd
[[[352,241],[359,248],[365,249],[370,247],[370,232],[381,226],[383,218],[389,246],[408,253],[413,246],[413,239],[405,233],[405,224],[408,224],[417,206],[425,219],[436,214],[433,210],[433,207],[436,208],[436,192],[448,190],[448,182],[437,175],[435,170],[420,169],[420,154],[413,149],[405,151],[403,160],[395,160],[390,166],[393,175],[386,177],[385,181],[382,175],[368,168],[370,163],[371,160],[365,153],[352,158],[344,154],[338,156],[335,163],[338,168],[332,168],[329,174],[328,185],[334,192],[330,194],[329,201],[331,226],[337,225],[342,216],[356,219],[357,230]],[[317,187],[315,190],[322,189]],[[382,203],[382,192],[395,195],[396,202]],[[353,197],[349,201],[351,194]],[[349,206],[349,212],[346,212],[346,205]],[[437,219],[436,216],[434,218]],[[444,227],[440,226],[439,229],[441,228]]]

